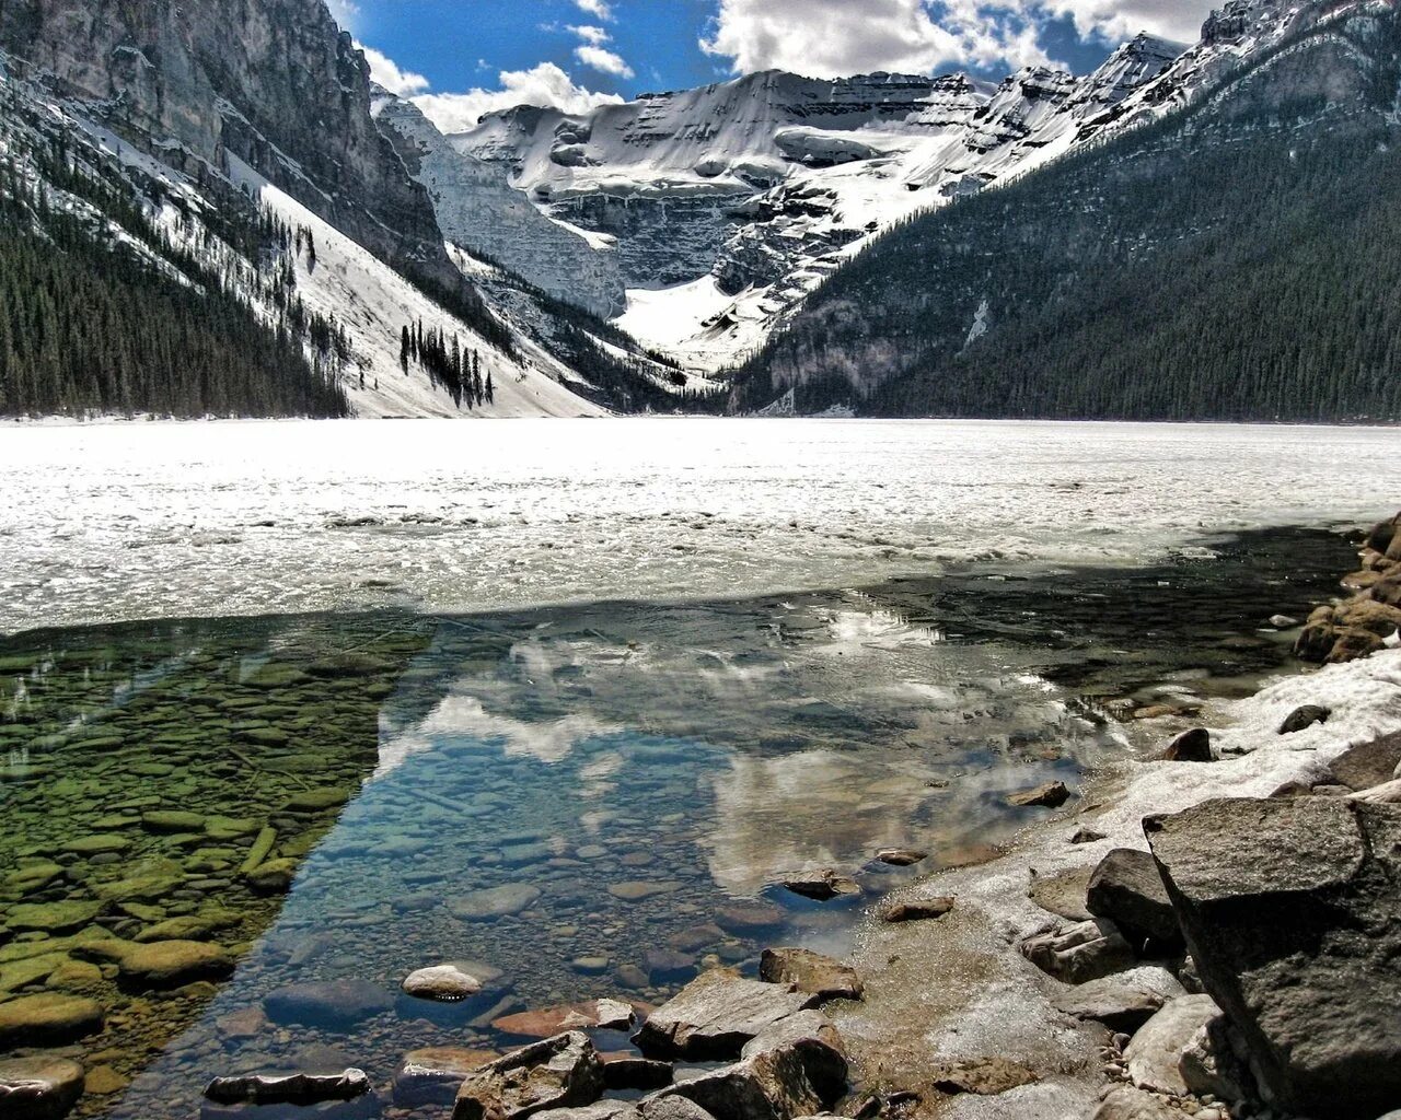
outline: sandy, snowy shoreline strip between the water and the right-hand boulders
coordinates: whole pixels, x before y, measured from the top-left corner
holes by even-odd
[[[1332,715],[1282,734],[1302,706]],[[933,1114],[955,1120],[1129,1116],[1115,1110],[1128,1109],[1122,1102],[1096,1112],[1103,1098],[1129,1084],[1126,1036],[1117,1039],[1101,1023],[1062,1011],[1058,1004],[1076,987],[1033,965],[1023,945],[1091,917],[1083,909],[1091,874],[1112,850],[1147,851],[1143,818],[1215,798],[1269,798],[1290,787],[1307,792],[1332,780],[1328,764],[1351,748],[1401,731],[1401,650],[1267,679],[1254,696],[1212,704],[1198,722],[1210,728],[1215,760],[1154,755],[1087,773],[1068,809],[1021,832],[1003,854],[934,872],[883,903],[951,899],[947,916],[890,924],[880,920],[880,907],[869,913],[850,958],[864,1000],[831,1009],[863,1089],[884,1099],[913,1095]],[[1164,734],[1161,746],[1170,738]],[[1139,959],[1112,979],[1170,1001],[1182,987],[1164,963]],[[1201,990],[1182,979],[1188,991]],[[965,1063],[978,1071],[999,1061],[1026,1071],[1027,1082],[1013,1078],[1005,1091],[993,1085],[992,1095],[946,1095],[930,1086],[934,1067]],[[1157,1099],[1171,1109],[1166,1114],[1199,1120],[1288,1114],[1229,1107],[1210,1095]]]

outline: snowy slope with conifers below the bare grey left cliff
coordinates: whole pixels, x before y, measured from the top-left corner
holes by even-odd
[[[0,412],[464,414],[450,378],[401,361],[417,323],[495,374],[481,413],[601,412],[469,288],[448,311],[237,155],[182,175],[21,69],[0,55],[0,230],[13,260],[49,258],[48,294],[13,270],[0,284],[18,309],[0,328]]]

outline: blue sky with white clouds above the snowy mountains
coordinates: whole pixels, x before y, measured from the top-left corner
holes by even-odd
[[[1031,63],[1086,71],[1150,31],[1195,39],[1210,0],[328,0],[375,76],[440,126],[510,104],[570,112],[779,67],[818,77]]]

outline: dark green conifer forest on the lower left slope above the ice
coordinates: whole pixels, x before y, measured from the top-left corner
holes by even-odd
[[[13,97],[0,111],[28,113]],[[161,186],[142,186],[158,207]],[[11,144],[0,162],[0,414],[347,414],[349,337],[307,312],[287,259],[294,246],[314,255],[310,231],[221,209],[202,214],[207,228],[178,220],[181,239],[130,182],[62,137]],[[228,249],[213,252],[214,238]],[[254,298],[276,308],[275,322]]]

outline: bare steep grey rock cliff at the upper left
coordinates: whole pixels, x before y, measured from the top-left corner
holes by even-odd
[[[0,45],[181,171],[237,155],[378,256],[454,276],[322,0],[6,0]]]

